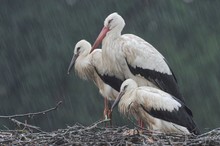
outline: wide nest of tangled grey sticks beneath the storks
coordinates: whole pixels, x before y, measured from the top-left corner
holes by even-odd
[[[30,129],[0,131],[0,145],[220,145],[220,128],[201,135],[179,135],[132,130],[127,126],[108,128],[106,121],[90,126],[75,124],[53,132]]]

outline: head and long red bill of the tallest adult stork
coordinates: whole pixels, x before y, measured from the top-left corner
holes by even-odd
[[[99,44],[105,38],[107,33],[112,34],[112,35],[121,34],[121,31],[123,30],[124,26],[125,26],[125,21],[118,13],[115,12],[115,13],[110,14],[105,19],[104,27],[102,28],[102,31],[100,32],[95,43],[93,44],[91,52],[99,46]]]

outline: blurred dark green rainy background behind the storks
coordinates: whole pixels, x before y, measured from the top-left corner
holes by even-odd
[[[67,68],[74,45],[93,43],[104,19],[118,12],[126,21],[123,33],[144,38],[168,60],[201,130],[219,127],[219,8],[218,0],[2,0],[0,115],[40,111],[62,100],[58,111],[28,123],[50,131],[99,120],[97,88],[74,72],[68,76]],[[113,116],[115,125],[128,123]],[[13,124],[0,119],[0,129],[6,127]]]

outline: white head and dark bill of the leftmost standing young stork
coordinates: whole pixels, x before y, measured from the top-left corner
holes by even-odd
[[[75,45],[75,49],[74,49],[74,53],[73,53],[73,57],[72,60],[70,62],[67,74],[70,73],[71,69],[73,68],[77,58],[79,56],[87,56],[89,55],[91,50],[91,44],[89,42],[87,42],[86,40],[81,40],[79,41],[76,45]]]

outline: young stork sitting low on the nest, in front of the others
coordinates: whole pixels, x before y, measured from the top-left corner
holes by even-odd
[[[165,133],[199,134],[191,110],[174,96],[153,87],[138,87],[132,79],[125,80],[112,105],[119,112],[141,119],[150,130]]]

